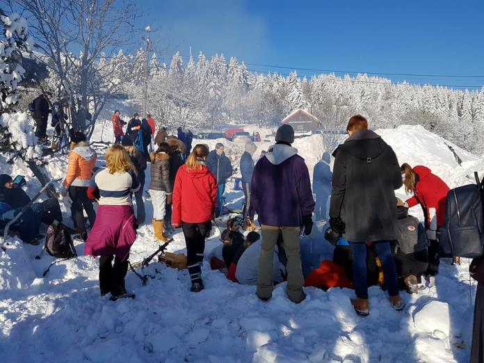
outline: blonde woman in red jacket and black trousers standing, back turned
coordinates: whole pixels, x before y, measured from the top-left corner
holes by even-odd
[[[205,238],[217,207],[217,181],[205,165],[209,152],[207,145],[196,145],[186,164],[179,168],[173,187],[172,226],[183,229],[193,292],[204,289],[201,266]]]

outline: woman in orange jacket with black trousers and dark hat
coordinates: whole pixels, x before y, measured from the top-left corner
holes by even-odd
[[[86,143],[86,136],[79,131],[72,134],[69,165],[67,166],[67,175],[63,181],[61,194],[65,196],[69,193],[69,197],[72,200],[72,220],[74,220],[74,227],[76,227],[79,233],[79,236],[76,238],[82,241],[86,241],[88,238],[83,209],[88,214],[91,227],[96,220],[92,201],[88,198],[89,181],[92,177],[92,169],[94,169],[96,160],[96,152]]]

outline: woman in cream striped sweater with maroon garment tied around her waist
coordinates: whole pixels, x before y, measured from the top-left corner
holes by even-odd
[[[129,154],[119,145],[106,152],[106,169],[91,179],[88,197],[95,199],[99,190],[99,209],[94,226],[86,241],[85,255],[100,256],[99,289],[101,296],[126,296],[124,277],[128,271],[131,245],[136,239],[131,193],[138,191],[140,182]],[[114,259],[114,265],[111,265]],[[131,296],[132,297],[132,296]]]

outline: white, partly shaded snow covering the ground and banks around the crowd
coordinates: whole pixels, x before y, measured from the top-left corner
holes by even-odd
[[[109,125],[111,126],[111,125]],[[111,132],[111,127],[108,127]],[[95,138],[100,135],[95,131]],[[104,131],[106,132],[106,130]],[[442,138],[422,127],[403,126],[377,131],[394,147],[398,160],[423,163],[451,187],[472,182],[474,170],[484,162],[453,146],[463,163],[458,166]],[[269,131],[266,132],[269,134]],[[213,147],[218,140],[209,140]],[[205,142],[205,141],[204,141]],[[239,155],[242,145],[223,140],[227,154]],[[259,143],[266,150],[270,143]],[[310,172],[324,150],[320,136],[296,140]],[[99,150],[101,151],[101,150]],[[52,178],[65,175],[65,156],[46,159]],[[100,161],[102,162],[102,160]],[[1,172],[26,175],[28,193],[39,185],[19,163]],[[147,170],[149,175],[150,170]],[[398,195],[404,197],[403,190]],[[230,206],[240,207],[240,191],[227,191]],[[147,220],[152,205],[146,202]],[[412,213],[421,218],[421,211]],[[67,214],[66,214],[67,217]],[[318,225],[321,228],[321,225]],[[210,255],[220,242],[219,232],[207,243]],[[188,291],[186,271],[150,264],[143,273],[154,278],[146,286],[134,273],[127,288],[135,300],[111,302],[99,297],[97,261],[83,256],[61,262],[42,278],[52,257],[35,260],[41,246],[10,240],[0,255],[0,356],[3,362],[467,362],[476,284],[469,285],[467,259],[461,266],[443,260],[437,285],[418,295],[403,293],[407,306],[394,312],[378,287],[370,289],[371,314],[357,317],[348,289],[305,289],[307,299],[290,302],[284,284],[273,299],[261,302],[255,287],[234,284],[218,271],[203,268],[206,289]],[[330,245],[319,230],[305,237],[323,258],[331,258]],[[138,230],[131,261],[156,250],[152,227]],[[184,252],[182,234],[168,250]],[[141,272],[141,271],[140,271]],[[471,296],[469,296],[471,294]]]

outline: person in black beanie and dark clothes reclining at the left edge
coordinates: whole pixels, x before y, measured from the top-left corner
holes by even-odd
[[[29,204],[31,198],[25,193],[22,186],[15,184],[12,177],[7,174],[0,175],[0,202],[10,205],[13,209],[19,209]],[[41,223],[51,225],[54,220],[62,222],[62,213],[56,198],[49,198],[44,202],[36,202],[31,205],[35,216],[40,218]]]

